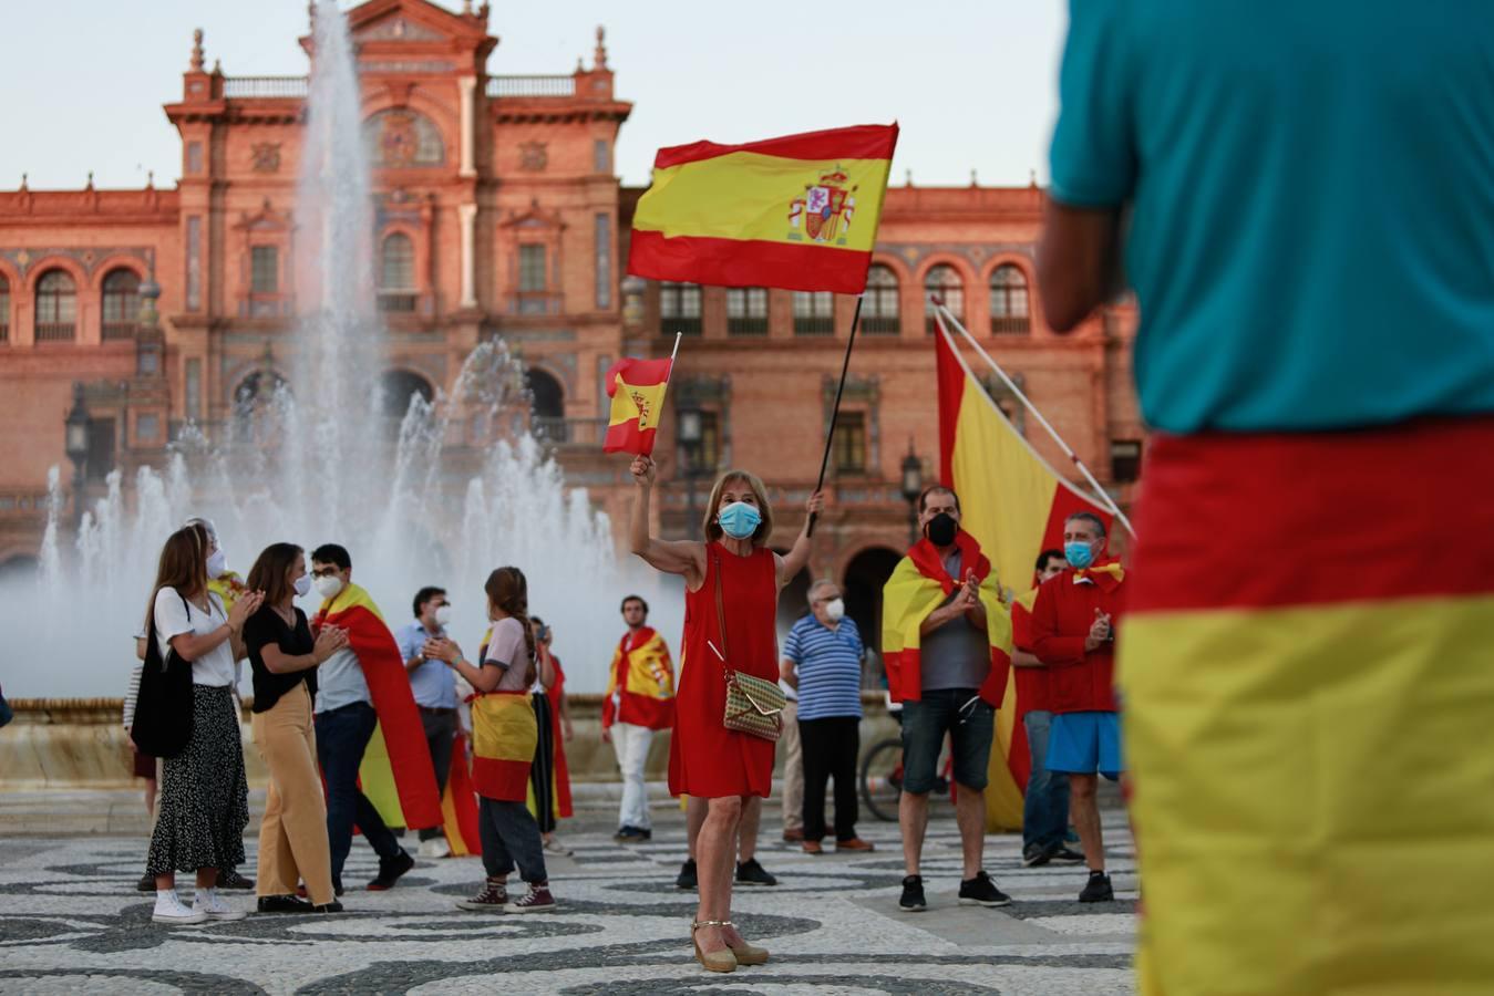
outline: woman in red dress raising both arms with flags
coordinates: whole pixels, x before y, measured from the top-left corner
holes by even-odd
[[[696,844],[701,908],[690,932],[701,965],[713,972],[731,972],[738,965],[768,960],[768,951],[747,944],[731,917],[743,805],[771,791],[774,745],[750,733],[728,730],[722,723],[725,669],[777,681],[778,591],[808,563],[810,538],[801,532],[784,557],[768,550],[772,509],[762,481],[746,470],[728,470],[716,481],[705,506],[704,544],[654,539],[648,535],[654,473],[651,457],[633,460],[636,494],[629,545],[657,570],[684,576],[684,639],[669,741],[669,793],[707,800],[705,826]],[[822,506],[823,499],[816,491],[808,511],[814,514]],[[717,584],[725,620],[716,612]],[[725,667],[717,650],[726,657]]]

